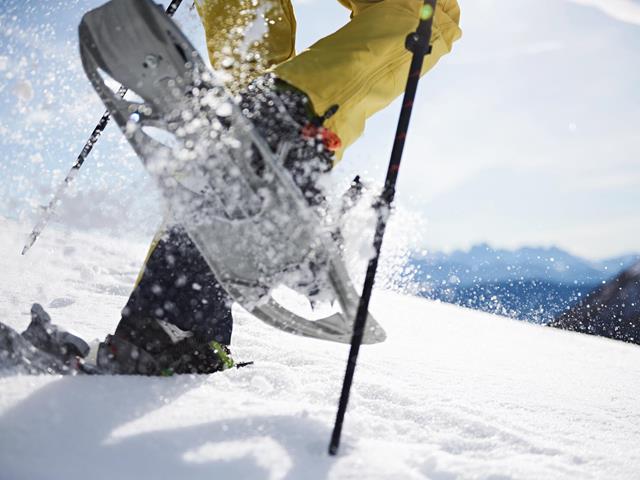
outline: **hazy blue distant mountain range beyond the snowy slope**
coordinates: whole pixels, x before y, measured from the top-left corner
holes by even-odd
[[[491,313],[547,323],[640,261],[631,254],[590,261],[559,248],[493,249],[413,255],[421,295]]]

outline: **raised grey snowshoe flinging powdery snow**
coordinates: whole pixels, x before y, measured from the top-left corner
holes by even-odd
[[[152,1],[112,0],[87,13],[80,51],[111,116],[234,300],[281,330],[348,343],[359,296],[322,216],[281,166],[287,145],[269,148]],[[130,94],[122,98],[116,82]],[[258,167],[250,152],[258,152]],[[301,290],[298,280],[310,272]],[[321,291],[341,312],[297,315],[274,300],[279,285]],[[369,315],[364,343],[384,339]]]

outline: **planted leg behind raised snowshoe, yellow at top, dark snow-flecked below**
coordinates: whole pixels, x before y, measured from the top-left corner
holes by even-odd
[[[267,68],[294,54],[295,18],[289,0],[258,8],[247,0],[196,2],[211,62],[227,71],[228,86],[238,90]],[[268,28],[246,43],[255,22]],[[123,340],[151,354],[166,349],[166,325],[189,332],[199,343],[229,345],[233,329],[231,299],[218,284],[186,232],[162,229],[152,242],[122,318],[110,340]],[[135,366],[132,367],[135,371]]]

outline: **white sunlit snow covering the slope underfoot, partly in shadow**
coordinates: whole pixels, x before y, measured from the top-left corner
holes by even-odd
[[[85,338],[113,331],[144,242],[0,219],[0,320],[33,301]],[[376,291],[338,457],[348,347],[235,310],[211,376],[0,378],[2,479],[637,478],[640,348]]]

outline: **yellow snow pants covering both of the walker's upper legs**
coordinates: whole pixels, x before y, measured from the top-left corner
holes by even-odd
[[[326,0],[322,0],[326,1]],[[406,36],[418,25],[422,0],[339,0],[351,20],[337,32],[296,55],[296,19],[290,0],[200,0],[196,2],[213,68],[227,72],[238,90],[267,71],[305,92],[346,147],[363,132],[366,120],[399,96],[409,73]],[[456,0],[438,0],[433,52],[422,73],[451,51],[462,34]]]

